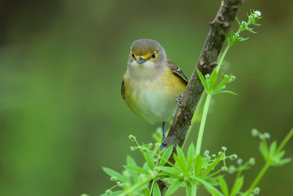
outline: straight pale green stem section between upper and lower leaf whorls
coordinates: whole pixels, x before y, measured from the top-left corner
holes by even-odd
[[[207,111],[209,109],[209,103],[211,102],[211,94],[207,94],[207,99],[205,101],[205,107],[203,109],[202,113],[202,120],[200,122],[200,130],[198,132],[198,137],[197,137],[197,143],[196,143],[196,149],[195,149],[195,156],[200,154],[200,148],[202,144],[202,137],[203,137],[203,131],[205,130],[205,121],[207,119]]]

